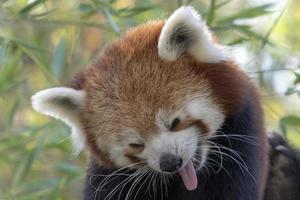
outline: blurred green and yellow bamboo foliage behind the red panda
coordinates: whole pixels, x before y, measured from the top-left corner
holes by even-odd
[[[300,146],[300,0],[0,0],[0,199],[81,199],[87,155],[34,112],[130,27],[193,5],[260,88],[266,127]]]

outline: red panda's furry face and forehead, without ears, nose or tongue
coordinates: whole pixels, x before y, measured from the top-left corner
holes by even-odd
[[[155,45],[159,32],[143,41],[153,26],[158,31],[161,24],[133,30],[87,69],[85,132],[118,167],[142,162],[163,171],[160,160],[168,154],[180,158],[178,169],[192,158],[202,163],[201,144],[222,123],[222,108],[199,71],[204,66],[187,56],[163,61]]]

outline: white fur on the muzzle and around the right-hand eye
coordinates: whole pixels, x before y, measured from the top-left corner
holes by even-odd
[[[201,136],[208,133],[201,132],[202,130],[197,127],[188,127],[181,131],[172,132],[168,130],[166,123],[170,124],[175,117],[183,123],[185,119],[201,120],[208,126],[209,134],[212,135],[222,125],[224,114],[209,95],[204,93],[186,101],[173,114],[170,113],[170,111],[164,112],[163,110],[157,113],[156,125],[160,129],[160,133],[147,141],[142,156],[147,159],[150,167],[160,170],[159,159],[165,153],[179,155],[183,159],[183,166],[194,158],[196,153],[200,153],[197,155],[197,159],[201,158],[200,163],[198,163],[199,168],[201,168],[207,160],[209,151],[205,139],[201,140]],[[200,151],[198,152],[197,149]]]

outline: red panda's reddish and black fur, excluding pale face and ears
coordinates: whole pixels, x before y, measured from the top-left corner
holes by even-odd
[[[244,73],[231,62],[201,63],[188,54],[182,55],[176,62],[161,60],[156,44],[163,25],[162,22],[152,22],[131,30],[124,38],[108,46],[85,71],[85,77],[89,77],[84,85],[87,91],[87,107],[83,113],[83,124],[89,142],[87,146],[93,147],[92,152],[107,152],[104,156],[97,153],[93,155],[98,163],[104,161],[103,165],[110,169],[102,171],[102,167],[96,166],[92,171],[96,169],[97,174],[108,175],[114,172],[114,166],[118,168],[116,163],[113,163],[114,159],[109,157],[109,150],[112,148],[107,141],[110,141],[109,137],[114,136],[112,133],[118,135],[124,126],[129,126],[135,127],[144,138],[158,137],[156,134],[159,129],[155,126],[158,110],[163,107],[171,113],[176,113],[177,106],[184,102],[186,97],[194,96],[195,93],[200,96],[205,94],[208,95],[209,102],[219,107],[224,116],[219,124],[213,125],[215,120],[205,124],[216,136],[210,141],[224,147],[221,154],[222,165],[226,170],[219,170],[220,166],[213,164],[210,166],[213,169],[209,175],[205,175],[205,170],[200,170],[199,186],[193,192],[188,192],[181,180],[174,178],[170,180],[168,188],[163,189],[168,191],[168,197],[160,194],[159,181],[153,183],[156,185],[154,190],[149,189],[154,196],[145,196],[148,194],[147,188],[143,189],[143,186],[140,188],[138,185],[133,189],[140,190],[138,195],[141,196],[137,199],[160,199],[163,196],[164,199],[262,199],[267,174],[267,145],[262,127],[262,110],[254,87]],[[191,110],[195,113],[200,111],[197,106],[193,107]],[[118,112],[114,112],[115,110]],[[106,122],[105,126],[101,125],[103,132],[99,132],[100,126],[95,127],[98,121]],[[126,139],[128,135],[126,138],[119,135],[119,140]],[[91,145],[95,141],[97,144]],[[236,155],[226,148],[239,152],[241,158],[236,158]],[[221,162],[217,153],[208,154],[208,157]],[[244,162],[245,166],[239,167],[233,158],[239,160],[240,164]],[[111,165],[108,166],[105,160],[110,160]],[[131,186],[136,186],[133,179],[124,188],[116,188],[121,180],[128,178],[127,176],[119,176],[115,179],[117,181],[111,180],[109,184],[104,185],[103,176],[95,177],[90,174],[87,182],[91,181],[91,177],[93,184],[87,184],[86,198],[97,194],[96,198],[104,199],[109,195],[106,192],[115,188],[114,198],[117,199],[119,195],[126,196]],[[102,186],[106,192],[95,192]],[[133,192],[136,193],[137,191]]]

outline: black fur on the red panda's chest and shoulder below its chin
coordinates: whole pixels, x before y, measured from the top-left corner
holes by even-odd
[[[223,147],[237,150],[240,152],[242,159],[245,161],[244,167],[239,167],[232,158],[224,154],[223,167],[220,171],[219,165],[211,165],[213,169],[211,173],[205,170],[199,171],[198,180],[199,186],[195,191],[187,191],[178,176],[171,177],[167,188],[161,186],[161,180],[156,179],[156,182],[147,181],[147,177],[141,180],[141,184],[135,185],[132,194],[137,195],[136,199],[166,199],[166,200],[254,200],[262,199],[262,188],[264,183],[263,172],[261,171],[261,161],[256,157],[260,153],[257,145],[249,145],[248,142],[254,140],[241,141],[241,138],[230,137],[232,134],[242,133],[241,135],[256,137],[258,129],[254,125],[256,122],[256,111],[253,110],[252,97],[249,94],[249,100],[245,103],[242,111],[239,111],[228,117],[219,132],[226,134],[228,137],[219,137],[214,142]],[[223,135],[223,134],[222,134]],[[223,135],[224,136],[224,135]],[[252,137],[248,137],[252,138]],[[230,156],[234,156],[230,150],[222,150]],[[220,158],[215,154],[210,154],[208,159],[213,159],[220,162]],[[225,170],[226,169],[226,170]],[[126,170],[116,172],[116,170],[107,170],[99,167],[96,162],[92,162],[86,180],[85,199],[105,199],[112,194],[112,190],[116,188],[122,181],[128,178],[128,175],[123,174]],[[114,172],[116,175],[114,176]],[[133,173],[127,171],[128,174]],[[105,175],[112,174],[110,179],[106,179]],[[104,181],[103,181],[104,180]],[[109,181],[111,180],[111,181]],[[126,184],[124,188],[120,187],[116,190],[111,199],[118,199],[119,195],[125,199],[130,188],[134,185],[133,179]],[[145,183],[146,182],[146,183]],[[144,183],[144,185],[142,185]],[[154,188],[152,186],[154,185]],[[102,187],[103,186],[103,187]],[[102,187],[102,188],[101,188]],[[162,187],[162,188],[161,188]],[[101,189],[100,189],[101,188]],[[98,189],[98,190],[97,190]],[[162,192],[161,192],[162,189]],[[138,191],[139,190],[139,191]],[[167,194],[165,193],[167,191]],[[110,193],[111,192],[111,193]],[[110,194],[109,194],[110,193]],[[131,197],[134,198],[134,195]]]

